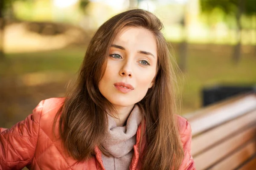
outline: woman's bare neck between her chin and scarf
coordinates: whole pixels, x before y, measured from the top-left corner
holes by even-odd
[[[123,126],[125,124],[126,120],[128,119],[132,109],[134,108],[134,105],[130,105],[130,106],[114,105],[114,107],[115,107],[116,113],[117,113],[117,115],[115,115],[116,118],[113,118],[116,122],[116,126]]]

